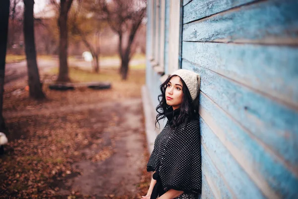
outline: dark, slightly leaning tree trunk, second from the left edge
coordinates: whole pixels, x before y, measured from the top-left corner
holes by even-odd
[[[24,40],[25,53],[27,60],[29,94],[34,99],[44,99],[42,84],[40,83],[39,73],[36,62],[36,50],[34,42],[34,0],[24,0]]]

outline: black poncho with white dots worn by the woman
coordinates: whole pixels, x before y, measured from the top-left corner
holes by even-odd
[[[176,114],[179,114],[179,108],[175,109]],[[174,189],[184,191],[185,194],[200,194],[202,172],[199,120],[191,119],[186,124],[171,128],[169,121],[172,118],[168,115],[166,117],[168,121],[155,139],[147,171],[158,173],[164,193]]]

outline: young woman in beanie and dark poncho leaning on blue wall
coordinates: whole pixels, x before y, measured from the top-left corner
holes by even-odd
[[[167,122],[154,142],[147,164],[153,175],[142,199],[197,199],[201,194],[199,88],[200,76],[185,69],[160,85],[155,126],[162,118]]]

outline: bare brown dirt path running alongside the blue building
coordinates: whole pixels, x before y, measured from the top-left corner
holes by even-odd
[[[97,122],[111,113],[114,121]],[[100,137],[103,142],[98,147],[93,145],[81,152],[88,156],[97,154],[102,147],[112,147],[114,153],[104,161],[76,162],[73,167],[81,169],[82,175],[70,179],[66,186],[83,195],[97,195],[97,198],[135,193],[144,167],[142,152],[145,140],[142,134],[144,124],[141,101],[117,102],[100,111],[92,109],[90,120],[94,122],[95,128],[101,128]],[[68,195],[69,192],[61,190],[63,195]]]

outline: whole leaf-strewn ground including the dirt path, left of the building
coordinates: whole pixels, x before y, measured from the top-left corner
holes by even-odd
[[[71,77],[74,82],[110,81],[112,89],[53,91],[48,84],[55,80],[56,74],[41,74],[47,99],[36,101],[28,97],[26,80],[15,81],[9,87],[4,85],[3,116],[9,143],[5,154],[0,156],[0,198],[138,199],[146,195],[150,181],[146,171],[149,154],[140,107],[145,71],[130,71],[127,81],[120,80],[117,70],[108,69],[100,74],[72,69]],[[130,109],[135,103],[137,107]],[[131,128],[134,121],[128,118],[135,115],[140,126]],[[129,152],[133,149],[128,146],[122,151],[122,146],[129,145],[127,139],[132,139],[131,135],[139,136],[135,139],[142,146],[138,153]],[[86,166],[74,165],[97,165],[98,173],[94,175],[101,176],[105,173],[100,173],[104,172],[100,168],[116,170],[117,166],[109,164],[111,161],[115,164],[124,156],[122,153],[127,159],[138,160],[141,168],[135,172],[138,182],[134,189],[125,189],[125,179],[119,179],[114,191],[107,193],[91,190],[88,194],[81,186],[74,186],[87,179],[83,177],[88,171]]]

